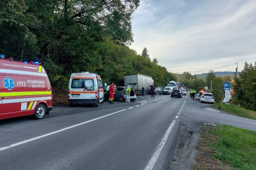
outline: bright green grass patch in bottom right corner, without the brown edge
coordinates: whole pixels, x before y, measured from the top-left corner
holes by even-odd
[[[221,125],[206,132],[202,138],[214,151],[211,156],[237,170],[256,169],[255,131]]]

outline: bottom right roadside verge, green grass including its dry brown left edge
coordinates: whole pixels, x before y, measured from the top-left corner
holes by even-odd
[[[207,128],[198,143],[194,170],[256,169],[256,132],[228,125]]]

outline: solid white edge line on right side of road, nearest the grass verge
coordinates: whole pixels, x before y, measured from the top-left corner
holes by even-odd
[[[153,169],[153,167],[154,167],[154,165],[155,165],[155,163],[156,163],[156,160],[157,160],[158,156],[160,155],[160,153],[161,153],[161,151],[162,151],[162,149],[163,149],[163,147],[164,147],[164,144],[165,144],[165,142],[166,142],[167,139],[168,139],[168,136],[169,136],[170,132],[171,132],[172,129],[173,129],[173,126],[174,126],[175,122],[176,122],[175,120],[172,121],[171,125],[169,126],[169,128],[168,128],[167,131],[165,132],[162,141],[161,141],[161,142],[159,143],[159,145],[157,146],[157,148],[156,148],[156,150],[155,150],[155,152],[154,152],[154,154],[153,154],[151,160],[148,162],[148,164],[147,164],[147,166],[145,167],[144,170],[152,170],[152,169]]]

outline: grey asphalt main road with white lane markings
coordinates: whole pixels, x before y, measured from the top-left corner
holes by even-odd
[[[41,120],[0,120],[0,169],[164,169],[185,97],[56,106]]]

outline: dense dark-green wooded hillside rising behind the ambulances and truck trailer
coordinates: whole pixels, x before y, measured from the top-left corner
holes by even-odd
[[[0,53],[39,60],[55,86],[67,88],[70,73],[81,71],[116,85],[123,85],[125,74],[141,73],[163,86],[175,77],[126,46],[133,42],[131,15],[138,5],[139,0],[1,0]]]

